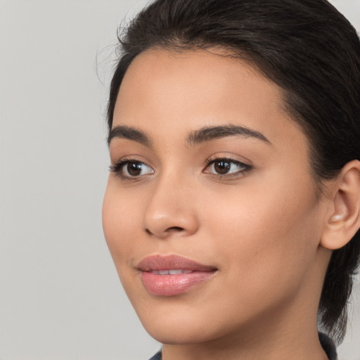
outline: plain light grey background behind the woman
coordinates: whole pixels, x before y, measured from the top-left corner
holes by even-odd
[[[147,1],[0,0],[0,359],[148,359],[101,228],[117,25]],[[333,1],[360,30],[360,1]],[[360,286],[340,360],[360,360]]]

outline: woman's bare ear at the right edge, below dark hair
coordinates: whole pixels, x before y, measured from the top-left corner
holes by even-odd
[[[360,162],[348,162],[331,188],[331,206],[320,245],[336,250],[349,243],[360,227]]]

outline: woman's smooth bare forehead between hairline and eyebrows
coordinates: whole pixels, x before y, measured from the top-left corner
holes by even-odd
[[[120,86],[113,126],[185,136],[224,123],[261,131],[270,141],[302,132],[285,112],[274,82],[218,49],[141,53]]]

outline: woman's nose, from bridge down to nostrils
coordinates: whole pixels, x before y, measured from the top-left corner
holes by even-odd
[[[146,233],[157,238],[186,237],[198,230],[195,198],[191,186],[176,176],[162,176],[144,214]]]

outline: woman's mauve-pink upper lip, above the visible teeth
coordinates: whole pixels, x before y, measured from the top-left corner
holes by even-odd
[[[139,262],[137,268],[141,271],[153,270],[192,270],[192,271],[214,271],[217,270],[214,266],[208,266],[195,262],[178,255],[151,255],[145,257]]]

